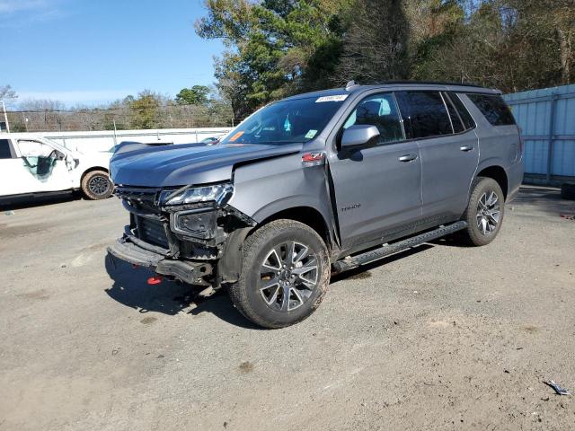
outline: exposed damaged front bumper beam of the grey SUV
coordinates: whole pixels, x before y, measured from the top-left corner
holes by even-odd
[[[129,234],[125,234],[108,247],[108,253],[112,259],[150,268],[156,274],[173,277],[190,285],[210,286],[205,279],[212,274],[210,263],[170,259],[166,254],[167,250],[141,242]]]

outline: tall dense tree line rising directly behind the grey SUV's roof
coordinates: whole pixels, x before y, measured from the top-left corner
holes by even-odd
[[[574,80],[575,0],[206,0],[223,40],[217,88],[234,116],[349,80],[481,84],[503,92]]]

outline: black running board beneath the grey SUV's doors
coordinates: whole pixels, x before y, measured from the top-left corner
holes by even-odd
[[[383,259],[399,251],[411,249],[411,247],[417,247],[424,242],[437,240],[438,238],[446,236],[449,233],[462,231],[465,229],[465,227],[467,227],[467,222],[463,221],[456,222],[454,224],[447,224],[447,226],[440,226],[433,231],[421,233],[417,236],[412,236],[407,240],[394,242],[393,244],[387,244],[376,250],[366,251],[365,253],[358,254],[357,256],[351,256],[346,259],[338,260],[333,264],[333,271],[335,273],[349,271],[349,269],[358,268],[361,265],[366,265],[367,263],[371,263],[375,260]]]

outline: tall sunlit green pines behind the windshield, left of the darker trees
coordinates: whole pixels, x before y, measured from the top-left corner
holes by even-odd
[[[339,60],[354,0],[206,0],[196,22],[206,39],[221,39],[217,88],[242,119],[261,105],[323,88]]]

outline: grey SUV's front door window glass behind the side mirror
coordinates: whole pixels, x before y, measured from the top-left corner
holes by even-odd
[[[391,93],[373,94],[358,103],[343,128],[355,125],[376,126],[379,129],[379,144],[401,141],[403,137],[399,112]]]

